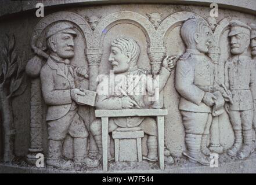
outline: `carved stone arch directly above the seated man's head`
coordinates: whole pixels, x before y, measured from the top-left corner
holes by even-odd
[[[99,52],[102,52],[102,43],[106,32],[109,31],[110,28],[114,27],[114,25],[121,23],[134,24],[142,29],[146,35],[149,46],[154,46],[158,42],[157,40],[159,39],[159,34],[147,17],[131,11],[116,12],[102,18],[95,28],[93,33],[95,37],[95,48],[98,47]]]

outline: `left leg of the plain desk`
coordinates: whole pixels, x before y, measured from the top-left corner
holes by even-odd
[[[102,164],[103,171],[107,171],[107,135],[109,126],[109,117],[102,117]]]

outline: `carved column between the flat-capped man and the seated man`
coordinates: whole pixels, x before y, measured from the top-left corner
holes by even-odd
[[[102,54],[98,50],[87,50],[87,58],[89,62],[89,90],[96,91],[97,83],[96,79],[99,75],[99,64],[102,57]],[[90,123],[95,120],[95,108],[90,108]],[[98,154],[98,147],[93,139],[93,136],[90,134],[89,141],[89,156],[96,157]]]

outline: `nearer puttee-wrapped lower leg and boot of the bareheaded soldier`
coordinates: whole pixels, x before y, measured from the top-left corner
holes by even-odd
[[[198,162],[201,165],[210,165],[210,158],[201,153],[201,138],[202,135],[186,134],[185,142],[188,148],[188,153],[183,152],[183,155],[188,157],[190,162]]]

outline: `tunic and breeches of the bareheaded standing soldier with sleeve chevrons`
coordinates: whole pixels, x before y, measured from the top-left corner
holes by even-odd
[[[176,90],[181,94],[179,110],[187,134],[209,134],[212,108],[203,102],[205,92],[223,89],[215,83],[214,64],[197,50],[186,50],[178,61]]]

